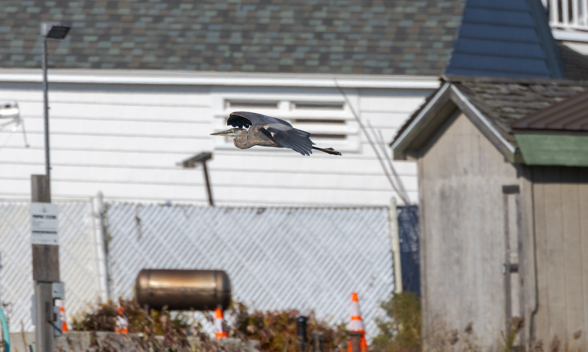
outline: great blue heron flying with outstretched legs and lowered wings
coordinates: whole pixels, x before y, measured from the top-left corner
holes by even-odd
[[[226,124],[238,128],[212,133],[211,136],[235,136],[233,143],[240,149],[262,145],[263,147],[290,148],[302,155],[312,154],[313,149],[341,155],[333,148],[314,147],[314,143],[310,140],[310,133],[294,128],[288,122],[275,117],[237,111],[229,114]]]

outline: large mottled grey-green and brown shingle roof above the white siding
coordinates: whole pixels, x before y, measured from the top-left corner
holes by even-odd
[[[440,75],[465,0],[8,0],[0,67]]]

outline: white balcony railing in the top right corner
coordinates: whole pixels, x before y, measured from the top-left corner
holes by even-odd
[[[549,12],[549,25],[554,35],[561,30],[588,33],[588,0],[542,1]]]

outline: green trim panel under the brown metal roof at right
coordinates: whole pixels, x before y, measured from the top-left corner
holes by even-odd
[[[588,134],[516,133],[524,164],[588,166]]]

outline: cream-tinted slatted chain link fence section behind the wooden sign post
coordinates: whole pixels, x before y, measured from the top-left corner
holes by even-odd
[[[81,312],[103,296],[91,202],[59,207],[59,270],[66,313]],[[32,253],[29,203],[0,203],[0,301],[11,332],[32,331]]]

